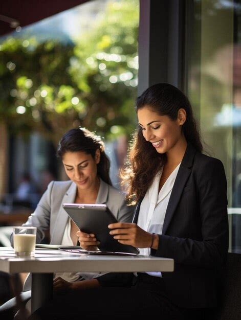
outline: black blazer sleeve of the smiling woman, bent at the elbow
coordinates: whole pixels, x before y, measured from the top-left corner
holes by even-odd
[[[222,162],[214,158],[206,162],[197,181],[202,241],[159,235],[158,249],[151,249],[151,255],[216,269],[223,265],[228,252],[227,181]]]

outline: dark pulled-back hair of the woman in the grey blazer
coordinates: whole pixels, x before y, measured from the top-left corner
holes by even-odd
[[[57,157],[62,158],[66,152],[83,151],[95,158],[96,150],[100,150],[100,162],[97,164],[97,175],[112,186],[109,178],[109,159],[104,152],[104,143],[99,135],[86,128],[71,129],[64,133],[59,141]]]

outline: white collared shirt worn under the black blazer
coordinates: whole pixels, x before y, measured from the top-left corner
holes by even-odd
[[[147,232],[162,234],[163,223],[171,191],[176,180],[181,163],[172,171],[160,192],[159,183],[163,167],[155,176],[151,186],[147,190],[140,207],[137,224]],[[140,255],[150,255],[150,248],[139,248]],[[161,272],[146,272],[148,275],[162,277]]]

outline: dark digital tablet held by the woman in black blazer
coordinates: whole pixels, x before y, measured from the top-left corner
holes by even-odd
[[[138,248],[121,244],[109,234],[108,225],[118,220],[106,204],[63,203],[63,209],[81,231],[95,234],[96,239],[100,241],[98,248],[101,251],[140,253]]]

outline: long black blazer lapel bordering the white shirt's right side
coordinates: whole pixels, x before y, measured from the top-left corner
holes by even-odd
[[[172,216],[177,208],[178,202],[181,198],[183,188],[186,184],[186,181],[191,173],[191,167],[193,164],[193,158],[196,153],[196,150],[190,145],[187,145],[186,152],[182,159],[177,178],[174,182],[170,199],[166,209],[166,215],[163,223],[162,234],[165,235],[167,228],[171,222]]]

